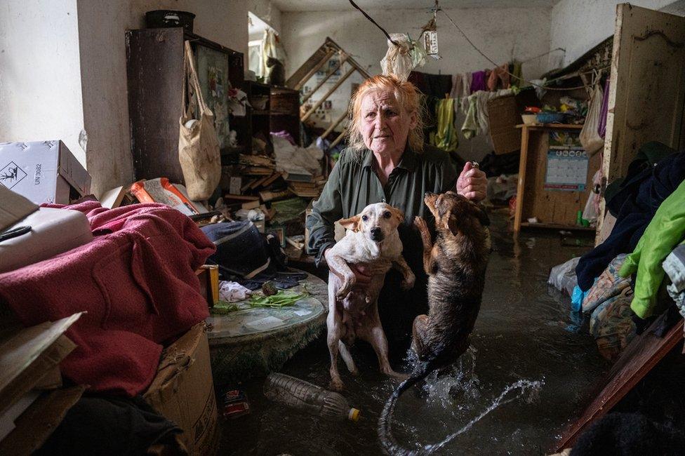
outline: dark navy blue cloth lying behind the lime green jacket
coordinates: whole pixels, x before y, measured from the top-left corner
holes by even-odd
[[[576,275],[581,290],[589,290],[594,279],[618,254],[634,250],[660,204],[684,178],[684,152],[667,156],[653,168],[626,178],[619,192],[606,203],[611,213],[618,213],[611,235],[578,262]]]

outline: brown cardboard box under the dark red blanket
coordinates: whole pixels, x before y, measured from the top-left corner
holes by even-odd
[[[182,441],[191,455],[216,453],[217,409],[204,323],[164,349],[143,397],[183,429]]]

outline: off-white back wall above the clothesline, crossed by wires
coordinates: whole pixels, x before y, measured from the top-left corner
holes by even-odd
[[[450,9],[447,12],[470,39],[481,47],[481,51],[496,62],[508,62],[512,57],[526,60],[550,50],[551,8],[474,8]],[[430,20],[430,14],[425,9],[369,10],[368,13],[388,32],[408,32],[411,36],[418,36],[420,27]],[[345,51],[351,53],[370,74],[380,73],[378,62],[387,51],[385,36],[358,11],[283,12],[281,23],[281,36],[288,53],[288,76],[324,43],[326,36],[330,36]],[[427,65],[418,71],[454,74],[493,67],[491,62],[485,60],[465,41],[444,15],[438,15],[437,24],[442,59],[429,58]],[[524,76],[536,78],[545,72],[546,65],[547,58],[528,62],[523,67]],[[309,85],[313,87],[316,84],[315,79],[312,78],[311,81]],[[332,98],[332,119],[337,118],[345,109],[351,83],[361,82],[361,78],[353,76],[347,81],[338,89],[337,93],[341,95]],[[324,84],[324,88],[313,98],[316,100],[330,87],[331,84]],[[462,123],[463,116],[460,116],[457,125],[461,126]],[[491,150],[488,137],[465,140],[460,136],[458,152],[465,159],[481,159]]]

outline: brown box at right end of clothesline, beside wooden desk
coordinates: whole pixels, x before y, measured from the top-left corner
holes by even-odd
[[[496,154],[506,154],[521,149],[521,129],[516,99],[514,95],[493,98],[488,101],[490,118],[490,137]]]

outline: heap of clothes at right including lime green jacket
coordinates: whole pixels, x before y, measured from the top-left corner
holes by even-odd
[[[580,257],[572,302],[590,315],[601,354],[615,359],[668,304],[674,301],[685,316],[685,152],[643,145],[610,190],[606,207],[616,224],[606,241]]]

